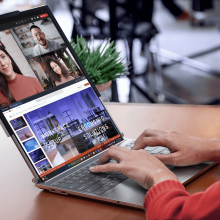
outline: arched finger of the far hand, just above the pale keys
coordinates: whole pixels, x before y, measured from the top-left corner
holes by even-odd
[[[144,149],[147,146],[163,146],[169,148],[169,142],[165,136],[161,137],[142,137],[138,142],[134,143],[132,150]]]

